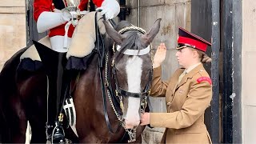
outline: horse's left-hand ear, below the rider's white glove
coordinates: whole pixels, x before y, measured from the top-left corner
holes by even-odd
[[[118,45],[120,45],[122,43],[122,40],[124,39],[124,36],[122,34],[118,34],[118,32],[116,30],[114,30],[108,24],[108,22],[103,20],[103,23],[106,28],[106,33],[110,36],[110,38],[112,38],[114,40],[114,42],[116,42]]]

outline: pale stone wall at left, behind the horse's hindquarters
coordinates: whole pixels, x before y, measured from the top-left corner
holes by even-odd
[[[0,70],[6,60],[25,46],[25,1],[0,0]]]

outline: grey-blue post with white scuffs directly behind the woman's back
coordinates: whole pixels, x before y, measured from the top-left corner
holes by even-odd
[[[213,143],[219,142],[219,48],[220,48],[220,2],[219,0],[211,1],[211,10],[212,10],[212,26],[211,26],[211,38],[212,38],[212,46],[211,46],[211,78],[213,80],[213,98],[211,101],[211,118],[210,118],[210,136],[212,138]]]

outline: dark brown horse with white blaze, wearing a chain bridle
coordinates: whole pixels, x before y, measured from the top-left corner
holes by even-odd
[[[145,110],[152,74],[149,46],[158,34],[160,21],[148,33],[129,22],[119,22],[115,30],[104,22],[104,52],[92,54],[87,69],[71,78],[75,83],[72,97],[78,138],[65,129],[66,138],[74,142],[122,142],[128,132],[134,137],[131,140],[136,137],[136,142],[141,141],[144,127],[139,126],[140,114]],[[41,48],[37,46],[39,53]],[[47,112],[52,112],[47,111],[46,70],[18,72],[25,50],[14,54],[0,74],[2,142],[25,142],[27,121],[31,142],[46,142]]]

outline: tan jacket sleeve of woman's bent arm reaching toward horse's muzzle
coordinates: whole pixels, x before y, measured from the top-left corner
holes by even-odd
[[[182,110],[174,113],[150,113],[150,126],[181,129],[191,126],[210,105],[212,87],[210,82],[194,82]]]

